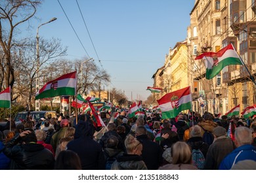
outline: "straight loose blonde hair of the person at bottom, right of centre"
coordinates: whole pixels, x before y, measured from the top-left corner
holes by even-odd
[[[171,147],[171,156],[173,164],[191,164],[192,152],[190,146],[186,142],[176,142]]]

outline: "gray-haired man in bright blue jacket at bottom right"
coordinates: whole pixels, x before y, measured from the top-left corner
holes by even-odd
[[[220,170],[232,169],[239,161],[256,161],[256,149],[251,145],[251,129],[248,127],[237,127],[234,136],[236,149],[230,152],[230,154],[221,161],[221,165],[219,166]]]

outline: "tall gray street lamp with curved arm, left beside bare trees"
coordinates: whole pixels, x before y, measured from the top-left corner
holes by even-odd
[[[39,90],[39,67],[40,67],[40,61],[39,61],[39,35],[38,35],[38,30],[39,30],[39,27],[41,27],[42,25],[45,25],[45,24],[49,24],[50,22],[53,22],[54,20],[57,20],[57,18],[52,18],[51,20],[49,20],[48,22],[45,22],[41,25],[39,25],[37,27],[37,42],[36,42],[36,45],[37,45],[37,72],[36,72],[36,80],[35,80],[35,90],[38,91]],[[40,101],[39,99],[38,100],[35,100],[35,110],[40,110]]]

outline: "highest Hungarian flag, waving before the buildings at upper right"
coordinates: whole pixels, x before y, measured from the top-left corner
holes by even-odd
[[[243,62],[238,56],[238,53],[234,49],[232,44],[228,44],[225,48],[219,50],[219,52],[205,52],[196,59],[204,59],[207,80],[218,75],[221,70],[227,65],[242,65]]]

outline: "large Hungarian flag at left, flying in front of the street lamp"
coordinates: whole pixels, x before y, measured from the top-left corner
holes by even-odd
[[[35,99],[44,99],[60,95],[75,95],[76,93],[76,71],[62,75],[51,80],[43,86],[36,94]]]

